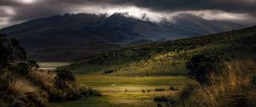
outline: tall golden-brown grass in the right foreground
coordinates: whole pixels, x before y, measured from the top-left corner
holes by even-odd
[[[189,85],[178,97],[175,106],[218,107],[232,104],[232,95],[246,93],[251,87],[256,64],[251,60],[235,60],[224,64],[224,69],[210,74],[210,83]]]

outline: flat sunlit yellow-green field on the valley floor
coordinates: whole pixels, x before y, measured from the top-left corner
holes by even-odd
[[[51,104],[52,107],[156,106],[155,96],[172,95],[177,91],[169,91],[170,86],[181,89],[186,83],[192,82],[184,76],[77,75],[76,79],[81,85],[101,91],[103,96],[55,103]],[[155,88],[165,88],[166,91],[155,92]]]

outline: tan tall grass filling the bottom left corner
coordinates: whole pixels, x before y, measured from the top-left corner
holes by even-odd
[[[48,94],[30,80],[6,71],[0,75],[1,98],[10,106],[46,107]]]

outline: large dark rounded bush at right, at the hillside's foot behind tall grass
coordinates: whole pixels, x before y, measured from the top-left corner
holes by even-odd
[[[213,53],[199,53],[194,55],[186,64],[189,69],[189,76],[198,82],[208,82],[208,76],[223,68],[223,59]]]

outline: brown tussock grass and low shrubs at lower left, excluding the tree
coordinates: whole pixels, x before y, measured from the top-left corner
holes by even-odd
[[[26,78],[5,71],[0,74],[0,97],[14,107],[48,107],[49,101],[69,101],[101,95],[89,87],[79,86],[75,81],[58,79],[54,71],[31,70]],[[65,87],[58,87],[56,82]]]

